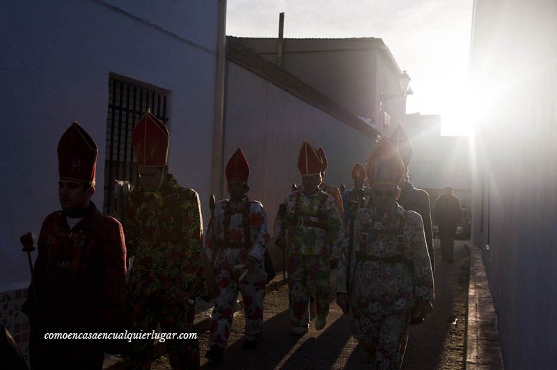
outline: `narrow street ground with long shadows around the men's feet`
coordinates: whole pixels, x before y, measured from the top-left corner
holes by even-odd
[[[427,321],[411,327],[402,369],[462,369],[466,326],[466,294],[469,257],[463,241],[455,243],[455,263],[441,263],[439,240],[435,240],[434,311]],[[331,297],[327,326],[313,326],[303,337],[289,333],[288,287],[265,297],[265,333],[259,351],[242,349],[244,314],[237,312],[223,364],[213,366],[203,354],[208,347],[207,331],[199,333],[204,369],[367,369],[368,364],[350,334],[350,316],[344,315]],[[170,369],[166,356],[152,369]]]

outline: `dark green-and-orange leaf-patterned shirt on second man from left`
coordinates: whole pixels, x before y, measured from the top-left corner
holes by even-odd
[[[130,193],[124,232],[134,264],[128,287],[150,293],[171,289],[201,291],[201,226],[199,197],[170,174],[159,191],[141,186]]]

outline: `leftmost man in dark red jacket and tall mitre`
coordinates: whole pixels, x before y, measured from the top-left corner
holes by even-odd
[[[102,369],[106,339],[49,339],[47,333],[118,332],[123,314],[126,250],[122,226],[97,210],[97,145],[77,122],[58,143],[61,211],[42,223],[29,316],[31,369]],[[113,352],[109,349],[107,352]]]

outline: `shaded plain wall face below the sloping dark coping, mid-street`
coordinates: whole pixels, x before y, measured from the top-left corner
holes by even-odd
[[[352,187],[356,161],[365,163],[374,141],[248,70],[228,63],[225,166],[237,147],[246,154],[251,173],[249,196],[265,206],[269,232],[278,205],[300,184],[297,168],[301,140],[322,146],[329,166],[325,182]],[[272,250],[278,258],[278,251]]]

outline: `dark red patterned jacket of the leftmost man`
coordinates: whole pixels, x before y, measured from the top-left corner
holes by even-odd
[[[22,307],[35,328],[117,331],[123,314],[126,250],[118,220],[91,202],[72,230],[62,211],[42,223],[33,268],[37,300],[29,287]]]

